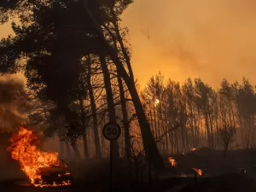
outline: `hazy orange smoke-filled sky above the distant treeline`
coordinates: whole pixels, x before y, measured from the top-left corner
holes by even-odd
[[[123,24],[138,82],[144,86],[161,71],[180,81],[201,77],[214,87],[224,77],[256,84],[255,10],[255,0],[135,0]]]

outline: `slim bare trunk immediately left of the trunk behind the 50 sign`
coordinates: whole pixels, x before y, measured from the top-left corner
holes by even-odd
[[[98,131],[98,121],[97,121],[97,114],[96,114],[96,103],[94,100],[93,90],[90,83],[90,76],[91,76],[91,69],[90,69],[90,58],[88,58],[87,63],[87,86],[89,90],[89,96],[90,96],[90,108],[92,113],[92,121],[93,121],[93,134],[94,134],[94,143],[95,143],[95,149],[96,149],[96,157],[101,158],[102,157],[102,151],[101,151],[101,145],[100,145],[100,138],[99,138],[99,131]]]

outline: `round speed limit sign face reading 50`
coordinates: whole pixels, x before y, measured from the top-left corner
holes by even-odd
[[[109,141],[113,141],[120,137],[121,128],[117,123],[110,122],[103,126],[102,134]]]

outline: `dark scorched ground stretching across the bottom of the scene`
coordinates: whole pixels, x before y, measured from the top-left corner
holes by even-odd
[[[129,167],[126,160],[115,162],[113,169],[113,188],[116,191],[169,191],[169,192],[255,192],[256,191],[256,150],[230,151],[226,157],[222,151],[201,148],[195,153],[164,155],[166,169],[158,172],[153,171],[150,186],[148,182],[137,183],[130,177]],[[172,167],[168,157],[172,156],[177,161],[177,166]],[[73,172],[75,187],[72,191],[108,191],[109,186],[109,160],[82,160],[81,162],[67,162]],[[193,168],[201,169],[207,178],[198,177],[195,184]],[[246,170],[240,172],[240,168]],[[24,178],[19,166],[2,165],[1,180]],[[147,181],[147,166],[143,168],[142,177]],[[179,174],[187,177],[178,178]],[[186,187],[185,187],[186,186]],[[182,189],[182,190],[181,190]]]

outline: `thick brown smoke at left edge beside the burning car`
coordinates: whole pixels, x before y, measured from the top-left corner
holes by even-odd
[[[11,160],[6,148],[10,134],[26,119],[19,107],[26,101],[26,86],[17,75],[0,77],[0,181],[25,177],[20,166]]]

